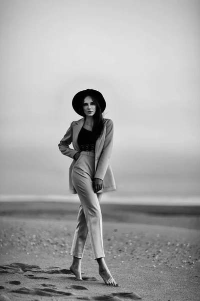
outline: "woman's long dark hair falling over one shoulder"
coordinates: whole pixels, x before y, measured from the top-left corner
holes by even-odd
[[[100,109],[100,106],[99,106],[99,103],[98,103],[98,100],[92,96],[92,95],[86,95],[86,96],[90,96],[92,101],[95,103],[96,105],[96,111],[93,115],[93,126],[92,126],[92,132],[95,136],[95,139],[98,139],[101,137],[102,133],[103,133],[103,122],[104,122],[104,118],[102,116],[102,113],[101,113],[101,109]],[[86,118],[85,114],[84,114],[84,111],[83,111],[83,103],[84,103],[84,99],[85,97],[81,100],[81,107],[80,107],[80,113],[82,116],[84,116],[84,119]]]

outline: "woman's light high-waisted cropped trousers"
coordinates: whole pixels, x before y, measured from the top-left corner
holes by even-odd
[[[89,232],[94,259],[104,257],[102,239],[102,216],[99,201],[102,193],[94,193],[95,155],[92,152],[81,152],[72,168],[72,184],[80,199],[77,225],[73,237],[71,255],[82,258]]]

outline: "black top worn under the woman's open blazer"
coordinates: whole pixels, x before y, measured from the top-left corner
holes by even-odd
[[[79,131],[77,142],[81,152],[89,152],[95,149],[96,139],[93,132],[83,126]]]

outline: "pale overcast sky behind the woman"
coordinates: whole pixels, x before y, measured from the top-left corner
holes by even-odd
[[[66,193],[71,160],[57,144],[81,118],[71,100],[86,88],[103,94],[114,122],[119,188],[124,177],[129,186],[172,174],[196,193],[199,9],[198,0],[0,0],[0,193]]]

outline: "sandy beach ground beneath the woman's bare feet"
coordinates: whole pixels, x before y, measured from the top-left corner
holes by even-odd
[[[194,207],[102,205],[104,284],[87,239],[82,281],[69,270],[78,204],[0,203],[0,300],[199,300],[200,216]]]

